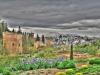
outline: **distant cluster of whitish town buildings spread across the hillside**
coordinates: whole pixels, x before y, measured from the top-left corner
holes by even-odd
[[[67,45],[67,44],[88,44],[91,43],[94,40],[99,39],[98,37],[88,37],[88,36],[79,36],[75,34],[60,34],[56,36],[48,36],[46,37],[46,40],[48,41],[48,44],[56,44],[56,45]]]

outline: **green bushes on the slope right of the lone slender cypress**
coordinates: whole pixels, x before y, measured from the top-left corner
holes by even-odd
[[[98,47],[100,46],[99,40],[92,42],[91,44],[82,44],[74,46],[74,51],[87,52],[90,55],[96,55]]]

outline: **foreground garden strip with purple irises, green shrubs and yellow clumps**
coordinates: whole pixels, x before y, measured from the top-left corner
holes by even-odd
[[[100,75],[100,59],[21,58],[17,64],[0,67],[0,75]],[[88,62],[88,64],[86,64]],[[83,63],[78,65],[78,63]]]

